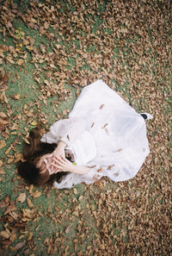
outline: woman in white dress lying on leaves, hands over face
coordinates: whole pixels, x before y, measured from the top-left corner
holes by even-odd
[[[144,119],[151,117],[97,80],[83,88],[68,119],[54,122],[42,137],[39,128],[30,132],[18,173],[29,184],[58,189],[104,176],[133,178],[150,153]]]

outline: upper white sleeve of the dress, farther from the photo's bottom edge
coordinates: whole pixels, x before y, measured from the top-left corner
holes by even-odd
[[[57,143],[64,141],[70,147],[85,130],[85,122],[82,119],[71,117],[54,122],[50,131],[43,135],[42,142]]]

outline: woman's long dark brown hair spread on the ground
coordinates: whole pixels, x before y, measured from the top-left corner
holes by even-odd
[[[25,161],[21,161],[17,166],[18,174],[29,184],[52,185],[54,180],[59,183],[62,178],[68,174],[68,172],[58,172],[57,174],[50,175],[48,171],[40,173],[40,169],[36,167],[36,163],[41,156],[47,153],[52,153],[57,147],[57,144],[55,143],[49,144],[46,142],[41,142],[40,138],[40,127],[34,128],[28,137],[29,144],[24,144],[23,158]]]

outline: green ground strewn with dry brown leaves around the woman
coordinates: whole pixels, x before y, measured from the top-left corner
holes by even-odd
[[[169,0],[0,0],[0,255],[170,255],[171,47]],[[97,78],[154,116],[137,177],[29,186],[16,174],[29,130]]]

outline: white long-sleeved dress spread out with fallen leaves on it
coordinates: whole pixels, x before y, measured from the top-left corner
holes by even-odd
[[[83,88],[68,119],[55,122],[41,139],[63,140],[77,165],[89,166],[87,174],[69,173],[58,189],[103,176],[114,182],[133,178],[150,153],[144,118],[102,80]]]

